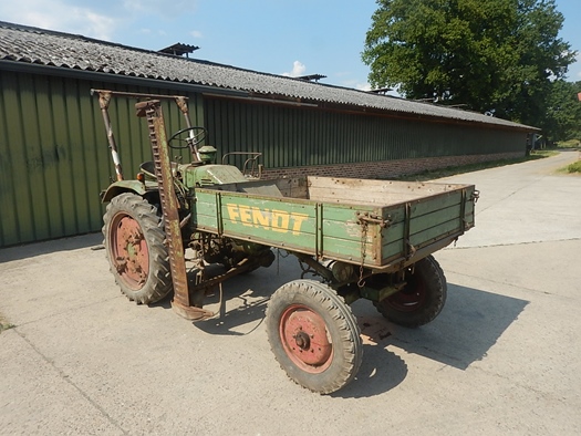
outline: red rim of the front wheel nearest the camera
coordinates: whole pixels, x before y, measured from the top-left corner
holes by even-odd
[[[290,360],[308,373],[321,373],[333,361],[333,343],[321,315],[303,304],[288,307],[279,334]]]

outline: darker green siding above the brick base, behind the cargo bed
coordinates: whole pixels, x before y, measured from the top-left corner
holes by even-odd
[[[206,98],[219,153],[260,152],[268,168],[525,152],[526,133],[313,107]]]

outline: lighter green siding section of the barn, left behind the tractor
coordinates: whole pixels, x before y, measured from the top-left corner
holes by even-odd
[[[100,230],[98,193],[115,172],[90,90],[167,91],[7,71],[0,71],[0,247]],[[200,96],[188,96],[193,124],[204,125]],[[126,178],[152,159],[134,103],[113,98],[110,107]],[[185,126],[173,102],[164,113],[169,132]]]

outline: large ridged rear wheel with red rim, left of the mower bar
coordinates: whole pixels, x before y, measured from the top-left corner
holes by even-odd
[[[114,197],[103,216],[105,252],[121,291],[137,304],[172,291],[169,258],[157,208],[132,193]]]

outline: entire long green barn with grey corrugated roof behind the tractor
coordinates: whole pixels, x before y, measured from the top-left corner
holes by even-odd
[[[0,247],[98,231],[114,169],[92,89],[188,97],[220,154],[264,177],[390,178],[511,158],[537,129],[483,114],[0,22]],[[110,110],[121,160],[151,160],[135,101]],[[177,131],[177,107],[165,107]]]

